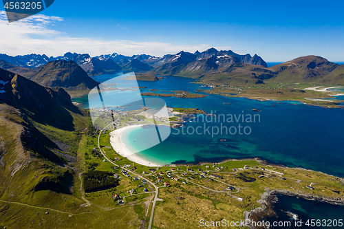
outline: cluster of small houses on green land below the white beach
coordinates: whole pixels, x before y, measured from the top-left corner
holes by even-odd
[[[216,163],[214,163],[213,165],[204,166],[204,171],[202,170],[202,168],[197,168],[197,171],[195,171],[193,168],[185,168],[185,166],[182,167],[183,168],[175,166],[167,170],[166,167],[148,168],[148,171],[142,171],[142,176],[147,177],[147,179],[149,179],[151,182],[153,182],[153,184],[155,184],[159,188],[168,188],[175,185],[196,185],[203,188],[208,188],[202,185],[204,184],[204,182],[202,182],[202,179],[208,179],[208,182],[213,182],[212,186],[215,187],[216,192],[227,193],[228,195],[237,199],[237,201],[244,201],[243,197],[237,197],[236,195],[234,195],[234,193],[239,193],[241,188],[235,186],[234,184],[226,184],[225,182],[222,182],[222,179],[224,179],[224,177],[221,176],[222,173],[237,174],[240,171],[259,169],[261,171],[266,171],[264,175],[259,175],[259,178],[267,177],[272,179],[272,177],[276,177],[276,175],[278,175],[279,177],[283,175],[283,173],[278,171],[268,170],[263,167],[259,168],[258,166],[248,166],[247,164],[244,165],[244,167],[242,168],[232,168],[231,171],[233,172],[229,172],[227,166],[217,166]],[[137,170],[136,166],[131,166],[130,164],[125,164],[123,168],[129,169],[129,171]],[[119,179],[127,177],[131,179],[131,183],[136,184],[137,187],[127,190],[126,193],[116,193],[113,197],[113,199],[116,201],[116,204],[126,204],[126,197],[129,197],[131,195],[139,195],[154,192],[152,190],[152,187],[149,186],[149,184],[147,184],[146,179],[142,179],[138,176],[131,176],[129,175],[129,171],[122,169],[120,171],[122,177],[118,175],[118,173],[114,174],[114,177]],[[281,177],[281,180],[286,180],[286,178]],[[226,186],[224,186],[224,184],[226,184]],[[222,188],[222,190],[219,190],[220,187]],[[307,188],[314,189],[312,187],[312,184],[310,184],[310,186],[307,186]]]

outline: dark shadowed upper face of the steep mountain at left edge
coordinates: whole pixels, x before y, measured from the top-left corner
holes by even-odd
[[[72,105],[71,98],[61,87],[43,87],[23,76],[0,69],[0,103],[10,105],[42,124],[61,129],[73,129],[69,109],[79,111]],[[49,114],[49,116],[47,116]]]

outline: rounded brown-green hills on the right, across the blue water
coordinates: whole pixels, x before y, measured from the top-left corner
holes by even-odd
[[[301,56],[272,67],[233,63],[195,78],[208,83],[250,85],[275,83],[315,83],[344,85],[344,66],[321,56]]]

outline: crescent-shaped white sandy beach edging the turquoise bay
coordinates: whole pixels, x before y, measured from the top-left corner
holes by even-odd
[[[116,131],[112,131],[110,133],[111,146],[119,155],[121,155],[122,157],[127,157],[127,159],[130,160],[131,162],[142,164],[144,166],[155,166],[155,167],[162,166],[161,164],[155,164],[153,162],[149,162],[148,160],[144,160],[141,157],[138,157],[138,155],[129,151],[127,146],[125,146],[125,144],[122,142],[123,133],[125,131],[128,131],[129,129],[135,129],[137,127],[141,127],[141,125],[133,125],[133,126],[117,129]]]

